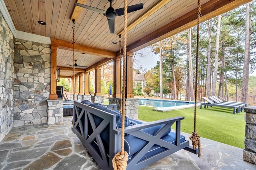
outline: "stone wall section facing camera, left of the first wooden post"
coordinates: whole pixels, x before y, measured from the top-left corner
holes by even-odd
[[[47,123],[50,46],[16,39],[14,48],[14,126]]]

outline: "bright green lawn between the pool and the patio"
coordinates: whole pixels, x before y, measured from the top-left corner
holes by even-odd
[[[232,109],[223,107],[197,108],[196,130],[200,137],[244,149],[245,112],[233,115]],[[139,106],[139,119],[144,121],[156,121],[176,116],[185,117],[181,121],[181,131],[191,134],[194,129],[194,108],[162,113],[153,111],[152,107]],[[175,124],[172,128],[175,129]]]

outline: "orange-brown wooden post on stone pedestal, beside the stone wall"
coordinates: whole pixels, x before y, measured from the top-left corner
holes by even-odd
[[[49,96],[49,100],[58,99],[57,96],[57,49],[58,47],[51,45],[51,94]]]

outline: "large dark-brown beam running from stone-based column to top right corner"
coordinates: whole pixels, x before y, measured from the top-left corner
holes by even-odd
[[[200,18],[200,22],[204,22],[219,16],[220,14],[228,12],[250,1],[251,0],[210,0],[201,6],[202,17]],[[193,27],[196,24],[197,9],[194,9],[184,16],[181,16],[180,18],[140,38],[134,43],[131,43],[127,46],[127,51],[138,51],[158,41],[180,33],[181,31],[184,31],[190,27]]]

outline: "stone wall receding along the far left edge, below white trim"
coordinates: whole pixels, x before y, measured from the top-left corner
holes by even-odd
[[[0,141],[12,128],[14,37],[0,13]]]

